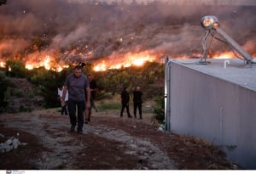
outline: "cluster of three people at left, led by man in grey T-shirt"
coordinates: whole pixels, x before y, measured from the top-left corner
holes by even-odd
[[[92,81],[91,75],[84,76],[82,65],[77,65],[74,67],[73,73],[67,76],[64,86],[61,88],[59,88],[62,91],[62,94],[59,93],[61,98],[61,114],[65,113],[66,115],[68,111],[71,123],[69,132],[74,132],[77,126],[77,132],[83,134],[84,115],[85,123],[89,123],[91,108],[95,108],[96,83]],[[67,100],[68,107],[66,104]],[[78,116],[76,116],[76,113]]]

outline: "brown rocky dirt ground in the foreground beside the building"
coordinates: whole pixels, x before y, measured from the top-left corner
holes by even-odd
[[[93,112],[84,134],[69,133],[59,109],[0,115],[0,143],[19,147],[0,153],[0,169],[212,170],[239,169],[218,147],[198,138],[161,132],[152,115],[119,118],[119,111]]]

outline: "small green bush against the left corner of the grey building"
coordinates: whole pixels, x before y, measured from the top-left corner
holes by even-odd
[[[154,98],[154,115],[155,119],[158,121],[165,120],[165,98],[162,96],[158,96]]]

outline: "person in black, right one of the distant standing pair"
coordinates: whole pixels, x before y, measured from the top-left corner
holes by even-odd
[[[137,108],[139,110],[140,119],[143,119],[143,92],[141,87],[136,87],[136,90],[133,92],[133,113],[134,117],[137,118]]]

